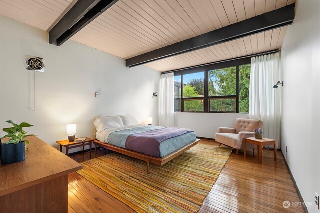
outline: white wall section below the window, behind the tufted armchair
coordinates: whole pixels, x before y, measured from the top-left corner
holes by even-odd
[[[192,129],[199,137],[215,138],[219,127],[233,127],[236,118],[249,118],[249,114],[176,112],[174,126]]]

